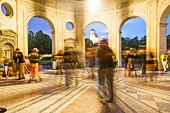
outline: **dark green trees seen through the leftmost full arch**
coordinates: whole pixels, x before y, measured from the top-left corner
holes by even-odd
[[[36,34],[32,31],[28,33],[28,51],[29,53],[33,48],[38,48],[40,54],[52,53],[52,40],[49,35],[44,34],[39,30]]]

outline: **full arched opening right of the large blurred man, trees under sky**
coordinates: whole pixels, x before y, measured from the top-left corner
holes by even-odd
[[[139,67],[139,54],[146,50],[146,23],[140,17],[128,18],[121,28],[122,67],[127,68],[129,54],[134,54],[135,67]]]

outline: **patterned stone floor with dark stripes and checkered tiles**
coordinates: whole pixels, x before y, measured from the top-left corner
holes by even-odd
[[[22,81],[1,78],[0,93],[4,98],[5,95],[12,98],[11,93],[17,94],[13,98],[19,94],[26,96],[20,101],[11,99],[15,102],[5,106],[7,113],[170,113],[169,72],[147,72],[147,75],[153,75],[150,81],[140,71],[138,77],[124,77],[124,71],[116,69],[114,104],[99,102],[97,79],[88,79],[87,69],[75,72],[79,85],[70,87],[64,85],[64,75],[56,75],[54,70],[41,73],[43,81],[40,83],[27,84],[28,76]],[[0,101],[4,98],[1,96]]]

